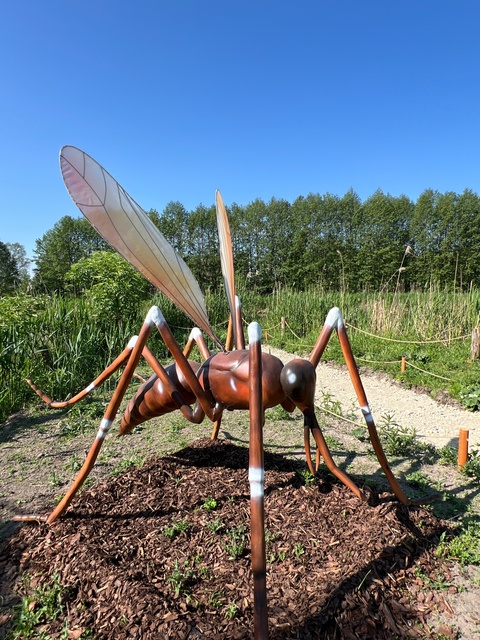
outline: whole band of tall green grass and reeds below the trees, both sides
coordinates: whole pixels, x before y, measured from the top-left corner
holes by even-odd
[[[453,380],[450,384],[432,379],[431,388],[442,385],[455,395],[473,382],[478,384],[480,365],[466,362],[469,336],[480,308],[478,290],[447,293],[432,287],[411,293],[340,295],[313,288],[306,292],[282,289],[261,296],[243,288],[239,293],[245,321],[257,320],[275,346],[308,353],[329,309],[342,302],[359,364],[398,375],[398,366],[375,363],[400,360],[407,355],[412,362]],[[27,295],[0,298],[0,420],[33,398],[24,382],[26,377],[58,399],[87,385],[138,333],[152,303],[162,308],[183,344],[191,321],[161,294],[145,301],[128,317],[106,316],[101,306],[84,299]],[[206,304],[214,330],[224,340],[228,318],[224,292],[207,292]],[[285,319],[284,329],[281,318]],[[367,333],[391,341],[372,338]],[[465,340],[456,339],[462,335],[467,336]],[[412,342],[405,342],[408,340]],[[149,346],[160,359],[168,357],[156,332]],[[335,340],[326,357],[340,359]],[[418,375],[407,369],[406,379],[418,384]]]

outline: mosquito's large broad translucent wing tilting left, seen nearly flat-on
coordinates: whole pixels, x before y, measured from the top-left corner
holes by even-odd
[[[220,345],[195,277],[143,209],[80,149],[63,147],[60,167],[72,200],[100,235]]]

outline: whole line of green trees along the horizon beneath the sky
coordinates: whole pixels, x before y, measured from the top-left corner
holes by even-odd
[[[356,292],[480,284],[480,197],[470,189],[427,189],[416,202],[382,191],[362,202],[353,190],[342,197],[309,194],[292,203],[257,199],[233,203],[227,213],[238,282],[262,293],[284,286]],[[148,215],[202,289],[216,289],[222,275],[214,205],[187,211],[170,202],[162,213]],[[0,243],[0,276],[8,271],[5,246]],[[63,292],[75,263],[109,250],[87,220],[65,216],[36,242],[31,285]],[[7,253],[12,256],[8,247]],[[13,282],[25,279],[15,276]]]

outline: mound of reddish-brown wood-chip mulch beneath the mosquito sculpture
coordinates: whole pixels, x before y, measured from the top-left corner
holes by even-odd
[[[270,637],[435,637],[425,619],[447,605],[418,572],[438,576],[445,524],[368,488],[361,503],[328,474],[305,486],[279,455],[265,466]],[[247,467],[246,449],[203,440],[85,490],[53,526],[7,541],[3,592],[55,575],[69,638],[251,638]]]

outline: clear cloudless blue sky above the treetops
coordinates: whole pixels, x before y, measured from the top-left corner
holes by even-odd
[[[65,144],[143,206],[480,191],[478,0],[16,0],[0,240],[77,216]]]

